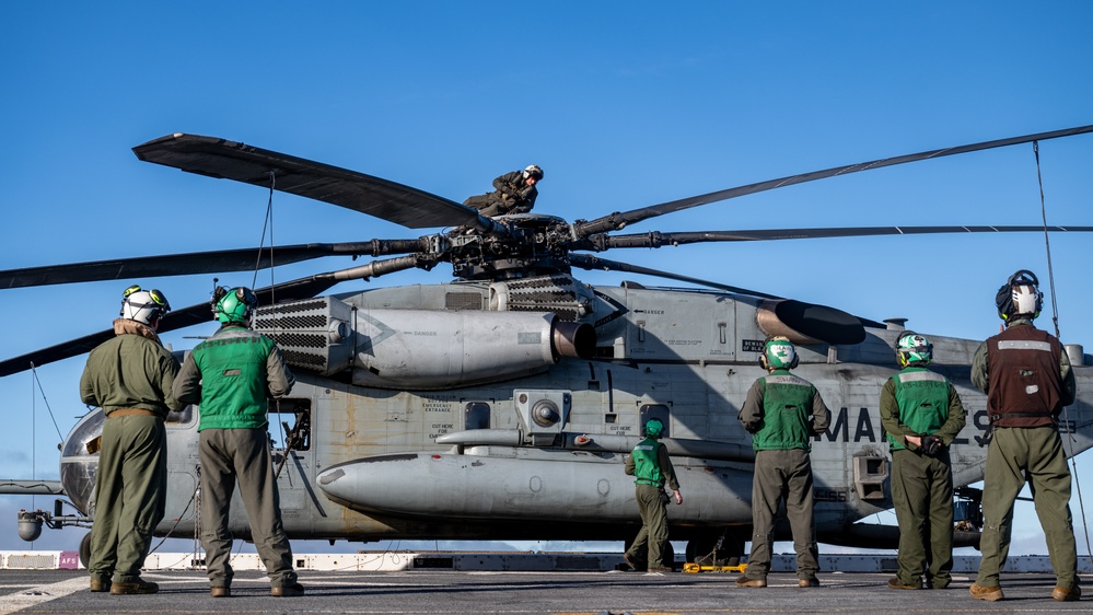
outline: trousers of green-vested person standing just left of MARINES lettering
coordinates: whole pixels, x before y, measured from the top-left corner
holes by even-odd
[[[804,449],[756,451],[752,477],[752,550],[745,571],[749,579],[766,579],[770,571],[775,522],[782,500],[793,533],[798,578],[814,579],[819,571],[809,452]]]

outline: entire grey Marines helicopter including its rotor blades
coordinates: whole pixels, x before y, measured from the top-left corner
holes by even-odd
[[[731,560],[751,535],[754,455],[736,420],[763,370],[763,341],[798,346],[795,372],[833,410],[815,439],[821,542],[895,548],[898,529],[858,523],[892,508],[880,390],[898,368],[900,322],[879,323],[835,308],[595,256],[628,247],[700,242],[908,233],[1045,231],[1040,227],[838,228],[619,234],[626,227],[743,195],[870,169],[1093,132],[1083,126],[804,173],[593,220],[543,213],[487,218],[416,188],[241,142],[174,134],[133,148],[137,156],[348,208],[409,229],[417,239],[223,250],[0,271],[0,287],[144,280],[223,274],[325,256],[369,256],[351,268],[255,289],[256,330],[274,337],[298,376],[270,402],[284,527],[307,539],[621,539],[640,526],[624,456],[641,426],[659,418],[687,497],[673,507],[672,538],[687,559]],[[1091,227],[1054,227],[1089,232]],[[257,257],[257,264],[256,264]],[[384,257],[384,258],[380,258]],[[452,266],[455,279],[323,293],[349,280]],[[706,287],[618,287],[580,281],[574,269],[659,276]],[[209,322],[208,302],[170,312],[160,330]],[[0,361],[0,376],[88,352],[104,330]],[[969,381],[979,340],[930,335],[932,367],[958,387],[968,422],[953,446],[965,529],[976,544],[984,477],[986,399]],[[1067,346],[1081,396],[1065,416],[1068,454],[1093,446],[1093,359]],[[182,360],[185,351],[176,352]],[[62,494],[78,514],[21,513],[20,533],[84,525],[93,518],[94,409],[66,439],[60,480],[9,484],[3,492]],[[199,467],[198,409],[167,423],[168,497],[158,535],[193,536]],[[91,449],[89,449],[89,444]],[[40,483],[40,481],[39,481]],[[58,500],[60,502],[61,500]],[[231,527],[249,536],[243,507]],[[788,530],[786,527],[784,530]],[[781,537],[780,537],[781,538]],[[780,539],[779,538],[779,539]],[[81,550],[86,557],[86,541]]]

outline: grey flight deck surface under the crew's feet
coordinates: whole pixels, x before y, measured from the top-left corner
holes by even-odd
[[[0,570],[0,615],[8,613],[1091,613],[1093,599],[1051,600],[1055,579],[1003,577],[1005,600],[968,595],[974,577],[955,575],[947,590],[889,590],[889,573],[834,572],[819,588],[798,588],[774,573],[766,589],[734,587],[735,573],[514,572],[407,570],[302,571],[307,594],[278,599],[260,572],[239,572],[232,597],[213,599],[201,571],[150,571],[154,595],[88,591],[84,570]],[[1091,588],[1089,575],[1082,583]]]

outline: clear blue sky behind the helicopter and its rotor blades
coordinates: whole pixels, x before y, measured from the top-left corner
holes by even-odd
[[[141,163],[130,151],[171,132],[239,140],[456,201],[534,162],[546,172],[537,211],[592,219],[1093,124],[1090,23],[1085,1],[7,2],[0,268],[257,245],[264,190]],[[1093,224],[1093,136],[1043,142],[1040,156],[1048,222]],[[774,190],[628,231],[1039,223],[1032,148],[1018,146]],[[287,195],[275,198],[274,224],[282,245],[426,232]],[[1091,245],[1089,235],[1051,237],[1062,337],[1086,348]],[[605,256],[975,339],[998,329],[995,291],[1015,269],[1035,270],[1049,291],[1042,234]],[[346,266],[326,259],[275,275]],[[205,301],[212,287],[207,276],[131,281],[162,289],[176,306]],[[107,328],[128,283],[0,291],[0,356]],[[1042,326],[1050,327],[1049,311]],[[187,348],[186,336],[213,328],[165,337]],[[62,433],[84,413],[82,365],[74,358],[38,370]],[[0,398],[9,433],[0,465],[13,477],[55,477],[58,436],[31,375],[0,379]],[[1093,462],[1079,472],[1088,483]],[[0,500],[0,548],[23,548],[14,511],[51,501]],[[1045,552],[1031,506],[1016,526],[1015,553]]]

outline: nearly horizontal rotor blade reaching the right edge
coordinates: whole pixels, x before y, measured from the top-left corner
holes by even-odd
[[[845,227],[832,229],[770,229],[758,231],[693,231],[679,233],[640,233],[602,235],[602,241],[584,244],[589,250],[612,247],[661,247],[706,242],[744,242],[769,240],[809,240],[819,237],[858,237],[869,235],[925,235],[940,233],[1024,233],[1043,232],[1044,227]],[[1053,233],[1088,233],[1093,227],[1047,227]],[[590,240],[593,237],[589,237]],[[580,245],[580,244],[579,244]],[[592,247],[595,246],[595,247]]]

